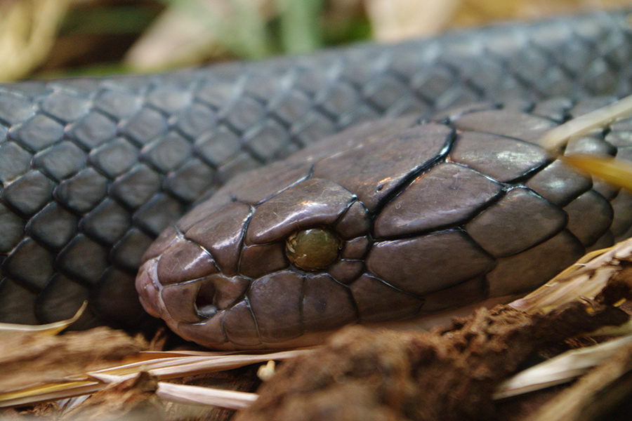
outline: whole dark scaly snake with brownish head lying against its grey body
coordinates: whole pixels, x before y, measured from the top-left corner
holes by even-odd
[[[77,328],[251,349],[525,293],[631,234],[630,194],[535,143],[631,91],[631,37],[599,12],[2,84],[0,321],[87,300]]]

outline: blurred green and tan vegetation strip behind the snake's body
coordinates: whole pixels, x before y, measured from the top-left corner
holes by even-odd
[[[0,81],[154,72],[632,0],[0,0]]]

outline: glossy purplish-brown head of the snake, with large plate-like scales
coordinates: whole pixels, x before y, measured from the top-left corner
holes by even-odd
[[[486,298],[496,260],[461,224],[503,187],[445,160],[454,136],[385,119],[239,175],[147,250],[143,306],[187,340],[244,349]]]

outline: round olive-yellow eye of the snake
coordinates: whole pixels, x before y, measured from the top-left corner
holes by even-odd
[[[310,228],[291,234],[285,241],[285,254],[296,267],[314,271],[338,259],[338,236],[329,229]]]

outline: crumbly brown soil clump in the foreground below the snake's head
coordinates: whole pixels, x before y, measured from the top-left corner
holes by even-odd
[[[529,354],[627,319],[584,300],[548,314],[479,309],[431,332],[345,328],[308,358],[284,363],[235,420],[489,419],[496,385]]]

